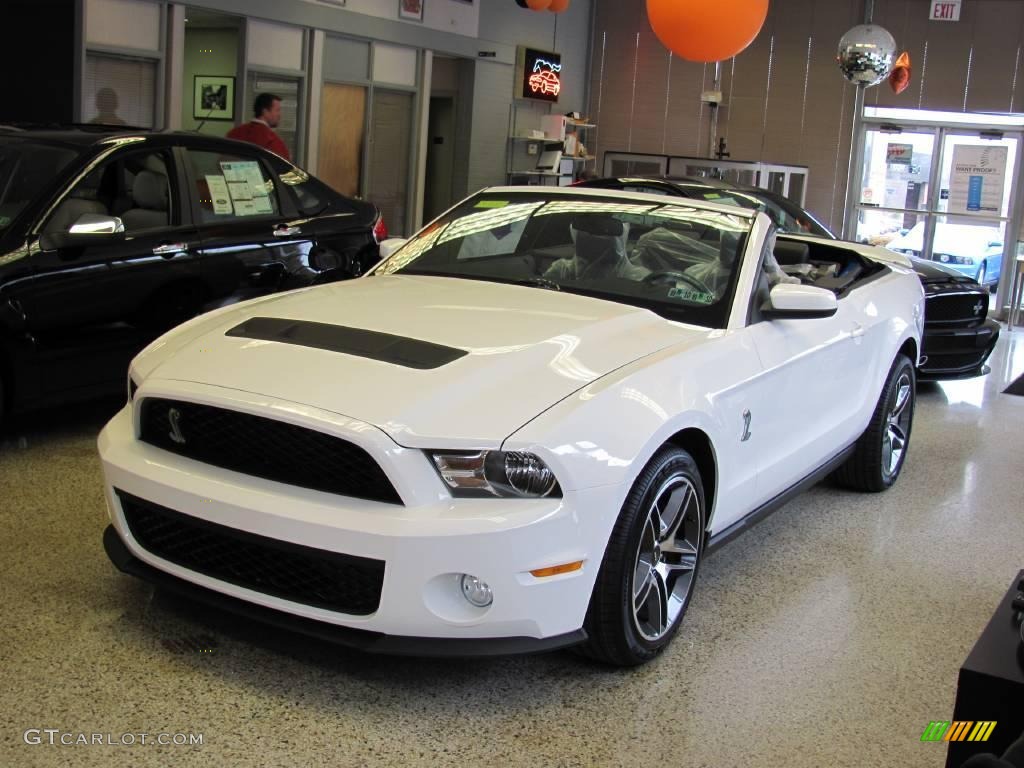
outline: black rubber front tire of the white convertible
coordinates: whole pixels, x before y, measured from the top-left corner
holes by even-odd
[[[652,541],[654,504],[662,501],[665,504],[658,505],[656,515],[659,532],[651,550],[656,553],[656,562],[648,562],[643,559],[647,557],[645,543]],[[676,502],[677,512],[673,513],[670,510]],[[588,640],[579,646],[581,653],[605,664],[635,667],[665,650],[678,632],[693,594],[706,537],[705,509],[696,462],[678,447],[663,447],[640,473],[615,521],[587,609],[584,628]],[[668,524],[666,515],[670,515]],[[664,566],[669,575],[657,566]],[[643,592],[643,585],[638,588],[635,584],[641,567],[646,568],[643,584],[649,585],[643,600],[634,597]],[[663,597],[660,608],[651,607]],[[660,631],[656,637],[648,637],[641,625],[651,636],[655,625]]]

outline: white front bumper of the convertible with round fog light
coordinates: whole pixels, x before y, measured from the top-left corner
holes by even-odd
[[[296,407],[309,411],[305,407]],[[312,414],[307,414],[314,416]],[[329,425],[324,415],[325,425]],[[331,426],[337,431],[336,426]],[[394,450],[379,430],[342,434],[371,455],[389,453],[389,472],[429,487],[406,506],[293,487],[201,464],[135,439],[126,408],[99,436],[111,528],[104,544],[125,572],[271,624],[367,650],[417,654],[511,653],[581,642],[590,595],[621,499],[617,487],[566,492],[561,499],[452,499],[422,453]],[[386,443],[386,444],[385,444]],[[389,447],[388,447],[389,446]],[[283,599],[182,567],[142,547],[122,496],[161,505],[285,546],[383,561],[380,601],[368,615]],[[547,579],[529,571],[578,560],[580,570]],[[487,608],[470,605],[458,574],[494,592]]]

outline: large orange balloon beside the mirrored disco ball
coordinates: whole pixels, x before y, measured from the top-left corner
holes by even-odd
[[[768,0],[647,0],[657,39],[690,61],[732,58],[754,42],[767,17]]]

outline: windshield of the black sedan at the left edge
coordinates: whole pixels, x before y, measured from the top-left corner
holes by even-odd
[[[77,154],[67,146],[0,136],[0,231],[10,226]]]

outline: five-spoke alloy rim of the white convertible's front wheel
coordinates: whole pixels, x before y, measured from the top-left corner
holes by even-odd
[[[686,607],[703,537],[700,498],[684,475],[667,479],[647,510],[633,569],[633,621],[659,640]]]

